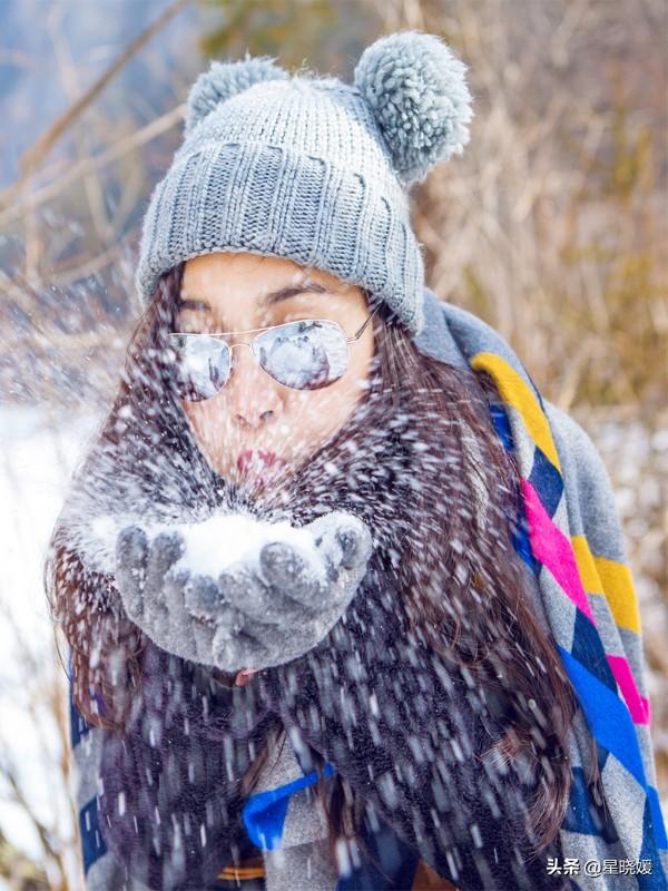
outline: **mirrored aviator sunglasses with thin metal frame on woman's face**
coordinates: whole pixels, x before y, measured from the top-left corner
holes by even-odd
[[[350,344],[360,340],[379,306],[352,337],[337,322],[306,319],[247,331],[169,334],[174,383],[180,399],[202,402],[225,386],[232,374],[232,351],[248,346],[259,368],[291,390],[320,390],[340,380],[350,363]],[[255,334],[249,342],[225,337]]]

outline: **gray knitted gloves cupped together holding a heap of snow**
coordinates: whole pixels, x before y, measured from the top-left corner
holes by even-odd
[[[180,533],[151,542],[127,527],[116,545],[116,585],[129,618],[169,653],[225,672],[268,668],[316,646],[338,621],[365,575],[371,535],[357,517],[333,511],[304,527],[314,539],[314,571],[284,541],[218,577],[175,569]]]

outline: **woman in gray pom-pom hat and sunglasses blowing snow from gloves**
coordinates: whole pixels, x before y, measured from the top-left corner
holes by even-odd
[[[577,572],[560,619],[536,536],[552,498],[587,542],[582,490],[556,483],[598,459],[537,402],[528,488],[498,373],[521,363],[424,287],[410,228],[405,187],[468,141],[463,72],[405,32],[364,52],[354,87],[246,58],[191,90],[144,225],[146,313],[49,567],[72,742],[94,741],[89,888],[568,888],[572,851],[626,850],[607,797],[626,780],[606,779],[570,670],[592,667],[582,615],[609,682],[611,633],[574,601]],[[207,522],[248,513],[276,535],[218,572]]]

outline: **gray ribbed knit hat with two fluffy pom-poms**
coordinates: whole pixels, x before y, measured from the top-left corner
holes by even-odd
[[[144,219],[143,302],[177,263],[243,251],[360,285],[419,334],[424,264],[407,187],[469,141],[466,68],[419,31],[367,47],[354,86],[291,76],[247,52],[212,62],[190,90],[184,143]]]

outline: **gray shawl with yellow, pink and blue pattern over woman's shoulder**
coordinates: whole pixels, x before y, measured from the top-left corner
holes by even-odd
[[[541,396],[519,358],[493,329],[469,312],[441,303],[428,288],[424,307],[425,333],[415,340],[416,345],[454,365],[485,371],[495,382],[492,421],[521,473],[524,522],[518,525],[513,545],[534,580],[537,609],[553,636],[580,706],[569,744],[570,802],[560,830],[564,861],[572,858],[579,868],[568,874],[567,882],[582,891],[666,889],[668,839],[656,789],[640,616],[603,462],[582,428]],[[87,727],[73,704],[71,715],[87,884],[89,889],[121,889],[98,822],[100,732]],[[602,776],[602,801],[586,781],[591,737]],[[242,883],[246,888],[277,891],[283,887],[275,859],[268,860],[281,849],[288,852],[283,869],[287,863],[292,887],[313,887],[307,859],[313,859],[312,845],[322,836],[323,825],[312,810],[310,831],[296,828],[307,825],[304,790],[315,783],[316,775],[298,770],[296,760],[286,757],[273,775],[265,773],[259,791],[244,807],[248,838],[267,858],[264,869],[249,868],[245,877],[237,871],[237,878],[247,880]],[[335,770],[326,765],[326,772]],[[297,851],[302,856],[295,862]],[[405,846],[399,845],[399,851],[413,877],[406,882],[407,872],[402,870],[402,891],[429,887],[426,881],[433,875],[429,877],[426,864]],[[587,875],[584,864],[592,860],[601,866],[606,861],[631,862],[635,869]],[[372,877],[370,889],[389,888],[382,877],[374,880],[371,866],[365,874]],[[271,875],[273,884],[265,884]],[[250,884],[262,877],[262,884]],[[233,887],[225,883],[227,879],[232,874],[222,864],[220,888]],[[350,887],[342,877],[332,890]],[[441,881],[434,887],[448,884]]]

